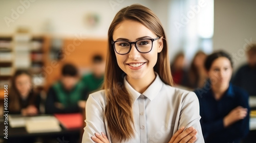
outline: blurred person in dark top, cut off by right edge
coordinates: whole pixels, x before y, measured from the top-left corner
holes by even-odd
[[[249,44],[247,49],[247,64],[238,69],[233,84],[247,90],[250,96],[256,96],[256,44]]]

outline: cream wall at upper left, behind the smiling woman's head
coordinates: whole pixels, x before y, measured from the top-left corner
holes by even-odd
[[[131,4],[139,3],[147,6],[157,15],[160,15],[163,24],[166,25],[167,12],[162,13],[162,4],[165,1],[131,1],[131,0],[21,0],[26,3],[28,8],[22,11],[24,6],[20,1],[4,1],[0,0],[0,34],[15,33],[19,26],[30,28],[31,33],[41,34],[48,33],[53,35],[68,35],[82,34],[84,37],[106,38],[111,21],[115,14],[123,7]],[[116,5],[115,5],[116,4]],[[156,6],[159,5],[159,6]],[[12,18],[12,9],[20,10],[18,16]],[[167,9],[167,6],[166,8]],[[97,13],[100,16],[99,25],[95,28],[88,28],[84,19],[88,13]],[[9,17],[12,22],[7,24],[4,17]],[[9,25],[9,26],[8,26]],[[50,29],[50,30],[49,30]]]

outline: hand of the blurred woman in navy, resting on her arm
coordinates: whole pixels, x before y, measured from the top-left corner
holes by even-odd
[[[247,108],[243,108],[241,106],[238,106],[231,110],[223,120],[224,127],[228,127],[232,125],[233,123],[236,123],[239,120],[242,120],[247,115]]]

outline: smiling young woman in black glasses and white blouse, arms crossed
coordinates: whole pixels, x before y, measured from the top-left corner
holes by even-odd
[[[157,16],[123,8],[108,35],[104,90],[87,100],[82,142],[204,142],[196,94],[172,87]]]

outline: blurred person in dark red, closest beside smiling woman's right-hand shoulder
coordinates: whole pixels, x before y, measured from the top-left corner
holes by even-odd
[[[184,70],[185,56],[183,52],[178,53],[173,63],[170,65],[172,69],[172,76],[175,84],[184,85],[184,77],[186,75]]]

